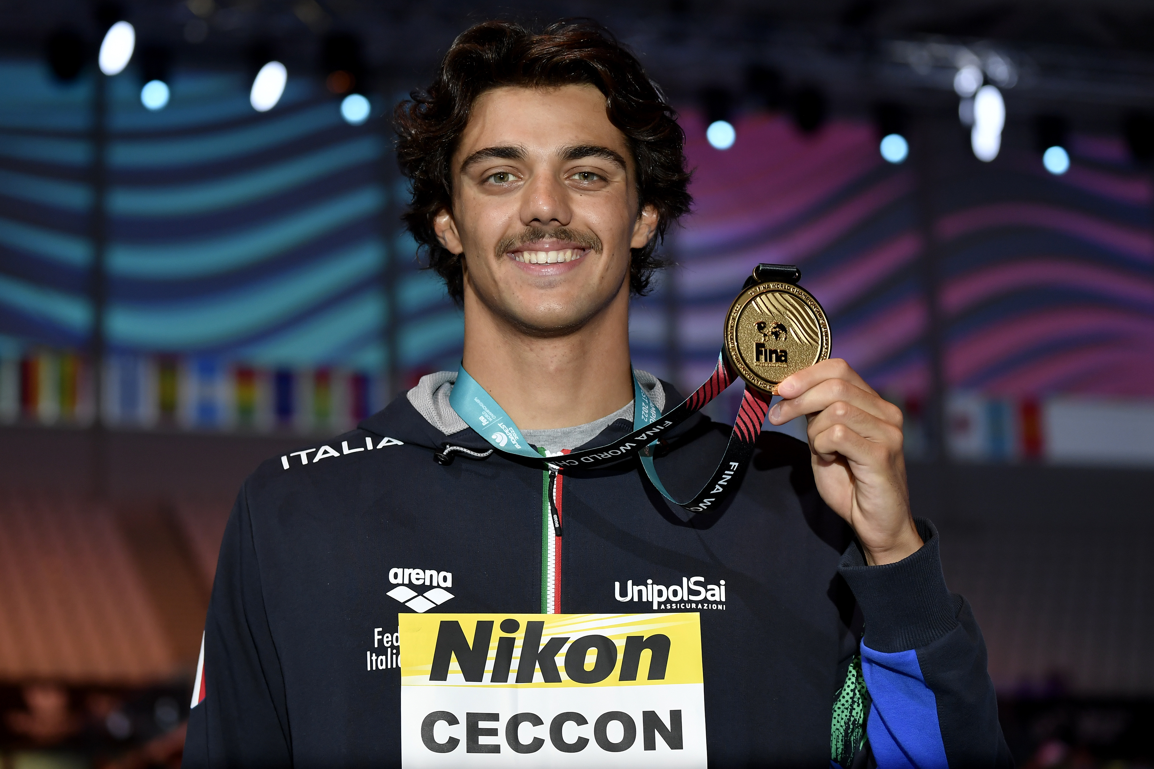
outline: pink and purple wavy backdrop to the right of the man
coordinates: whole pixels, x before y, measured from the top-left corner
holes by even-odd
[[[750,116],[727,151],[683,116],[694,214],[676,234],[677,340],[688,383],[707,376],[725,312],[757,262],[797,264],[830,315],[833,354],[876,387],[929,386],[928,303],[912,164],[886,164],[868,125],[817,136]],[[1151,178],[1121,140],[1080,137],[1061,178],[1028,152],[935,158],[943,360],[951,389],[999,397],[1154,397]],[[642,302],[638,357],[668,346],[667,297]],[[662,315],[662,312],[666,312]],[[636,333],[639,332],[639,333]]]

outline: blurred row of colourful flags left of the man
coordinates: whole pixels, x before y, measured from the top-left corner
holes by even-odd
[[[347,430],[384,406],[384,377],[342,368],[269,368],[207,355],[115,354],[104,364],[110,427],[235,431]],[[0,421],[90,424],[90,361],[72,350],[0,357]]]

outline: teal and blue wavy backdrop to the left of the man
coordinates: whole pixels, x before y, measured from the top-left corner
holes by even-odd
[[[0,83],[0,334],[82,348],[92,84],[13,62]],[[179,76],[157,113],[132,71],[108,84],[110,352],[381,370],[390,258],[391,295],[413,319],[398,324],[398,362],[456,348],[456,312],[396,238],[403,189],[379,123],[346,125],[304,78],[265,114],[240,76]]]

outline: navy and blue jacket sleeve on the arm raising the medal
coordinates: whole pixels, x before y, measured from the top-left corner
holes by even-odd
[[[868,566],[855,543],[839,565],[865,618],[874,759],[882,769],[1012,767],[982,632],[966,600],[946,589],[937,529],[915,522],[926,544],[909,557]]]

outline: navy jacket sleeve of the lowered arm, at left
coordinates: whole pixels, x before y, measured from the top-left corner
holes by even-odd
[[[182,766],[291,766],[284,677],[265,615],[246,488],[225,527],[203,644]]]

